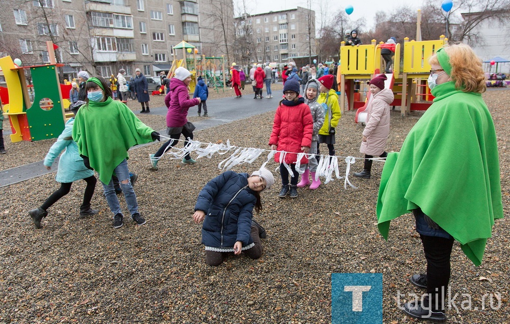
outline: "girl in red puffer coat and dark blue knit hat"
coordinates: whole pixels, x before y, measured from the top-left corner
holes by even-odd
[[[280,155],[283,163],[280,164],[282,176],[282,190],[278,197],[297,198],[297,181],[299,173],[296,171],[297,153],[308,153],[312,145],[312,132],[314,121],[310,107],[304,103],[304,98],[299,97],[299,83],[290,80],[285,83],[285,98],[280,101],[274,115],[273,130],[269,138],[271,150],[278,150],[274,155],[276,163],[280,163]],[[308,158],[303,156],[301,164],[307,164]],[[289,171],[292,176],[289,185]]]

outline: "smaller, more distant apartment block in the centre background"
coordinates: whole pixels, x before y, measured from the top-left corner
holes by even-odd
[[[314,56],[315,11],[296,9],[243,15],[236,18],[236,53],[243,64],[286,63],[292,58]]]

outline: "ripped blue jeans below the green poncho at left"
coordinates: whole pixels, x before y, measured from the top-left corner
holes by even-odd
[[[122,193],[124,194],[127,208],[129,208],[130,213],[133,215],[138,212],[138,202],[136,201],[135,191],[131,185],[126,159],[124,159],[115,168],[114,172],[120,181],[120,187],[122,188]],[[122,182],[125,180],[128,180],[127,183]],[[103,183],[103,189],[105,190],[106,201],[108,202],[108,206],[110,206],[110,210],[113,212],[113,214],[116,215],[118,213],[122,213],[120,210],[119,200],[117,199],[117,194],[115,194],[113,180],[110,180],[110,183],[108,184]]]

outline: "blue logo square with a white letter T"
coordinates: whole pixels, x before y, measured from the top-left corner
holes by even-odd
[[[331,323],[382,324],[382,274],[331,274]]]

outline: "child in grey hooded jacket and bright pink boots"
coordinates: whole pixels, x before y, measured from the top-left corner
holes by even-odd
[[[304,103],[308,104],[310,107],[310,111],[312,113],[312,119],[314,121],[314,130],[312,133],[312,146],[310,146],[309,153],[312,156],[308,160],[308,164],[301,165],[301,169],[304,170],[301,175],[301,181],[297,184],[298,187],[302,188],[310,184],[310,174],[312,175],[312,184],[310,185],[310,189],[315,190],[320,185],[320,180],[317,177],[315,180],[315,172],[317,171],[317,159],[314,154],[317,153],[317,140],[319,139],[319,129],[322,127],[324,123],[324,110],[322,109],[322,105],[317,102],[318,93],[320,89],[320,83],[316,79],[310,79],[307,82],[305,87],[305,97]]]

